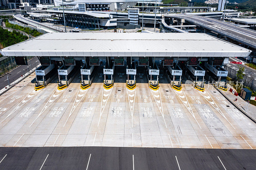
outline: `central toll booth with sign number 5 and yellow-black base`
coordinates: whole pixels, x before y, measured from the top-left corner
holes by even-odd
[[[136,88],[136,73],[136,65],[134,62],[132,62],[130,69],[126,66],[126,87],[130,90]]]

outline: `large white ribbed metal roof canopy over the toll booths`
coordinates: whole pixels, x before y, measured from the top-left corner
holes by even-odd
[[[204,33],[46,33],[5,56],[246,57],[252,51]]]

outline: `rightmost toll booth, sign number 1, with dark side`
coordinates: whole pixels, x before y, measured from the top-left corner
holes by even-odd
[[[207,78],[210,82],[215,83],[215,86],[223,91],[228,90],[227,86],[227,76],[228,71],[221,66],[212,66],[208,63],[204,63]]]

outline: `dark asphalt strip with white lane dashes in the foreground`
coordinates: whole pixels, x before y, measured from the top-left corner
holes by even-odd
[[[255,158],[256,150],[244,149],[2,147],[0,169],[249,170]]]

